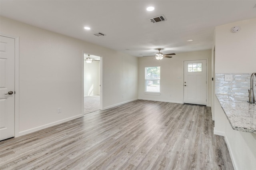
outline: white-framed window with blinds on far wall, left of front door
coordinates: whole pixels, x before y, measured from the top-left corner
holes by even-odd
[[[160,67],[145,67],[145,92],[160,93]]]

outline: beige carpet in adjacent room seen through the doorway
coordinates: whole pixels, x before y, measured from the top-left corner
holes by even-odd
[[[100,96],[84,97],[84,114],[100,110]]]

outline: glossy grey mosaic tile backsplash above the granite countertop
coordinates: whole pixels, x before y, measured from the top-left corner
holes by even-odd
[[[224,81],[225,75],[233,75],[233,81]],[[215,93],[248,97],[252,73],[216,73]],[[256,95],[256,78],[254,76],[254,95]]]

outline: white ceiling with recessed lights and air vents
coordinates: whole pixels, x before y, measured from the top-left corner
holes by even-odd
[[[211,49],[215,26],[255,18],[255,5],[255,0],[1,0],[0,14],[140,57],[157,48],[163,53]],[[155,10],[146,11],[148,6]],[[150,22],[160,15],[167,20]],[[93,35],[98,32],[106,36]]]

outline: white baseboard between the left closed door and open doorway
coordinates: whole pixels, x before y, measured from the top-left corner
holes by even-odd
[[[52,127],[54,125],[58,125],[60,123],[64,123],[64,122],[67,122],[67,121],[71,121],[73,119],[76,119],[76,118],[79,118],[79,117],[83,117],[84,115],[76,115],[76,116],[73,116],[73,117],[69,117],[69,118],[66,118],[66,119],[62,119],[60,121],[56,121],[56,122],[52,122],[52,123],[48,123],[46,125],[42,125],[42,126],[39,126],[39,127],[35,127],[35,128],[30,128],[28,130],[24,130],[24,131],[21,131],[21,132],[18,132],[18,134],[15,134],[15,137],[19,137],[19,136],[23,136],[25,134],[29,134],[29,133],[32,133],[32,132],[36,132],[38,130],[42,130],[44,128],[48,128],[48,127]]]

